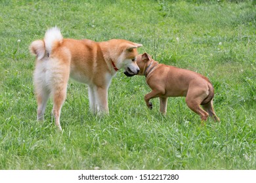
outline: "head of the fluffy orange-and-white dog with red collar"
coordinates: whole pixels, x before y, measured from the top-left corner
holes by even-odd
[[[116,39],[112,41],[116,42],[116,45],[118,45],[116,50],[112,50],[112,52],[115,52],[113,56],[116,59],[112,58],[112,61],[114,62],[114,67],[116,67],[116,70],[125,69],[124,74],[126,76],[137,75],[140,71],[136,61],[138,55],[137,48],[142,46],[142,44],[123,39]]]

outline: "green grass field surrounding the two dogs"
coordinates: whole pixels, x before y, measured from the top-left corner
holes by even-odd
[[[0,1],[0,169],[256,169],[255,1]],[[220,123],[205,126],[184,98],[162,116],[142,76],[122,71],[108,116],[93,116],[87,86],[70,80],[58,131],[36,122],[28,46],[57,25],[64,37],[127,39],[142,54],[207,76]]]

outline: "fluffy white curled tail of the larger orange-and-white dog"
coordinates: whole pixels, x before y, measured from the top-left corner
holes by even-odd
[[[37,56],[37,59],[42,59],[45,56],[49,56],[55,46],[58,46],[63,40],[58,27],[52,27],[45,33],[43,40],[36,40],[30,44],[30,52]]]

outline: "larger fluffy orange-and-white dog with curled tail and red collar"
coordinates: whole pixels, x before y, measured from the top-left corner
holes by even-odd
[[[112,39],[63,39],[57,27],[48,29],[43,40],[33,41],[30,52],[36,56],[33,82],[37,98],[37,120],[43,120],[49,97],[53,97],[53,116],[61,130],[60,110],[66,99],[68,79],[88,84],[90,108],[94,114],[108,113],[108,88],[119,69],[133,76],[140,69],[137,48],[142,44]]]

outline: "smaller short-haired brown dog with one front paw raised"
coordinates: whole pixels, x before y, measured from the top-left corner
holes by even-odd
[[[219,121],[213,110],[213,85],[205,76],[158,63],[147,53],[137,56],[137,65],[140,69],[138,75],[144,75],[146,83],[152,89],[144,97],[148,108],[152,109],[150,99],[159,97],[160,112],[165,114],[167,97],[184,96],[188,107],[199,114],[201,120],[206,121],[210,115],[213,120]]]

